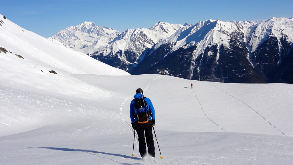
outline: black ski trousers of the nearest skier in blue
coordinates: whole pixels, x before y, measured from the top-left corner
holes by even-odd
[[[151,121],[143,124],[139,124],[136,122],[135,129],[138,135],[138,146],[139,146],[139,154],[144,157],[147,154],[146,149],[146,142],[147,142],[147,148],[148,153],[152,157],[155,157],[155,145],[154,145],[154,138],[153,138],[153,132],[152,132],[152,126]],[[144,138],[146,137],[146,140]]]

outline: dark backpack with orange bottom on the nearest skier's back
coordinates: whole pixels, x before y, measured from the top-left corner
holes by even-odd
[[[137,117],[137,123],[142,124],[149,122],[149,116],[151,115],[151,111],[149,110],[149,105],[147,104],[147,102],[142,98],[134,98],[134,100],[134,115],[136,115]]]

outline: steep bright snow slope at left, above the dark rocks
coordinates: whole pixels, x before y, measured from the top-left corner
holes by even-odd
[[[1,47],[12,52],[6,57],[11,57],[10,54],[19,54],[26,62],[40,63],[44,67],[55,69],[56,72],[67,74],[129,75],[120,69],[88,58],[83,53],[66,49],[64,46],[19,27],[8,19],[1,20],[4,21],[4,24],[0,26]]]

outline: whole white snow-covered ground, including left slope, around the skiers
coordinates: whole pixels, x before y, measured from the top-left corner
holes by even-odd
[[[2,17],[0,165],[150,164],[137,136],[131,157],[137,88],[156,110],[153,164],[293,164],[292,84],[129,75]]]

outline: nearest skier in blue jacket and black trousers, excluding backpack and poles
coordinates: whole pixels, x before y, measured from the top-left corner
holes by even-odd
[[[142,92],[142,94],[140,93]],[[130,103],[130,120],[131,125],[134,130],[137,131],[138,135],[138,145],[139,145],[139,154],[144,158],[147,155],[146,144],[148,148],[148,154],[151,155],[153,158],[155,157],[155,146],[154,146],[154,139],[153,139],[153,132],[151,130],[152,127],[155,126],[155,109],[151,100],[149,98],[144,98],[144,101],[147,103],[149,110],[151,111],[151,116],[147,123],[138,123],[137,117],[134,112],[135,107],[135,99],[144,97],[142,89],[137,89],[136,94],[133,96],[134,100]],[[146,137],[146,142],[144,137]]]

